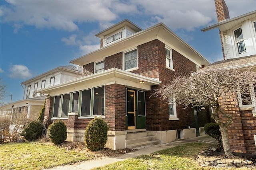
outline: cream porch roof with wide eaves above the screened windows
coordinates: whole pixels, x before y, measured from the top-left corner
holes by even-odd
[[[128,88],[148,91],[151,89],[150,86],[159,85],[160,83],[161,81],[153,78],[141,76],[118,68],[111,68],[103,72],[90,74],[56,86],[37,90],[36,92],[56,96],[110,84],[121,84]]]

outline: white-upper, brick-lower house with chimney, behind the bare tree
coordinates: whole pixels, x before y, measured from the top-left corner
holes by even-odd
[[[219,28],[224,60],[211,64],[208,69],[252,68],[256,72],[256,11],[230,19],[224,0],[215,0],[215,6],[218,23],[202,31]],[[249,86],[249,102],[243,102],[239,91],[237,96],[226,96],[226,102],[229,102],[228,112],[236,117],[234,123],[228,127],[228,133],[232,152],[255,154],[256,82]]]

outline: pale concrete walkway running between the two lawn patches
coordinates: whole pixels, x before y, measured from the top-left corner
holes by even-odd
[[[158,150],[163,150],[163,149],[168,149],[172,147],[176,147],[178,145],[182,145],[185,143],[193,143],[193,142],[202,142],[202,143],[212,143],[217,145],[217,141],[213,139],[212,137],[209,137],[208,135],[200,136],[200,137],[195,137],[191,139],[184,139],[184,140],[179,140],[179,141],[174,141],[171,143],[166,143],[166,144],[160,144],[160,145],[153,145],[137,150],[132,150],[129,153],[123,154],[121,156],[115,157],[115,158],[110,158],[110,157],[102,157],[102,158],[97,158],[94,160],[88,160],[84,162],[79,162],[76,164],[72,165],[64,165],[64,166],[57,166],[54,168],[50,168],[47,170],[90,170],[91,168],[96,168],[99,166],[104,166],[107,164],[111,164],[114,162],[122,161],[128,158],[134,158],[136,156],[140,156],[142,154],[151,154],[152,152],[156,152]]]

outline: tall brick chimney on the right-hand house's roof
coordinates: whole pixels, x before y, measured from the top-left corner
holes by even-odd
[[[230,19],[228,7],[224,0],[214,0],[218,22]]]

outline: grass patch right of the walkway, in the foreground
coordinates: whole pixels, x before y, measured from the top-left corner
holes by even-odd
[[[94,168],[94,170],[216,170],[213,167],[202,167],[196,161],[198,153],[208,147],[210,147],[210,144],[207,143],[188,143]],[[227,168],[218,168],[218,170],[225,169]],[[234,168],[228,169],[232,170]],[[235,169],[249,170],[250,168]]]

